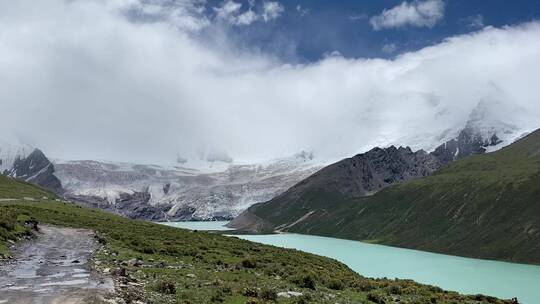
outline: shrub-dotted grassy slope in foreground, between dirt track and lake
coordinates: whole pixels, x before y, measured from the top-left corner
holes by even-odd
[[[32,192],[23,183],[0,179],[0,198]],[[27,188],[24,190],[23,188]],[[7,190],[6,190],[7,189]],[[35,196],[38,190],[33,192]],[[24,194],[23,194],[24,193]],[[130,220],[103,211],[47,199],[0,202],[0,244],[25,223],[89,228],[104,244],[96,268],[118,269],[138,258],[144,267],[124,266],[142,287],[124,292],[146,303],[509,303],[484,296],[462,296],[406,280],[364,278],[345,265],[290,249],[232,237]],[[298,291],[300,297],[277,297]]]

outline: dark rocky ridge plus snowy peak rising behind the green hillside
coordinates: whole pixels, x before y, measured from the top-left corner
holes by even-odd
[[[259,205],[264,216],[246,210],[229,226],[247,231],[282,230],[315,210],[332,210],[336,202],[373,195],[389,185],[428,176],[453,161],[500,149],[520,134],[518,127],[501,120],[500,103],[481,101],[456,136],[431,153],[394,146],[372,149],[323,168]]]

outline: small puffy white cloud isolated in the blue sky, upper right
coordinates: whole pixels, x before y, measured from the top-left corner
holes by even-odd
[[[403,26],[433,27],[444,18],[442,0],[415,0],[402,2],[370,19],[374,30]]]

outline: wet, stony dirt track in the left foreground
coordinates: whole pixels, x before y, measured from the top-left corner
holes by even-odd
[[[37,239],[0,266],[0,304],[75,304],[113,292],[109,276],[89,270],[97,247],[92,231],[40,226]]]

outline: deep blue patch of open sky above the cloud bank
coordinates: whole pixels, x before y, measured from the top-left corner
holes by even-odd
[[[236,1],[242,10],[250,1]],[[404,1],[280,1],[284,11],[271,22],[249,26],[231,25],[229,36],[238,45],[259,48],[290,61],[316,61],[332,51],[344,57],[393,57],[439,43],[446,37],[484,26],[501,27],[533,21],[540,17],[540,1],[535,0],[444,0],[443,16],[432,26],[404,24],[374,30],[373,16],[399,6]],[[414,4],[425,1],[409,1]],[[224,1],[207,3],[208,12]],[[251,2],[252,6],[260,2]],[[385,47],[386,46],[386,47]]]

